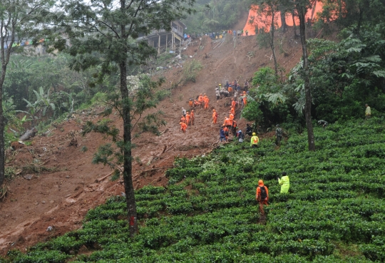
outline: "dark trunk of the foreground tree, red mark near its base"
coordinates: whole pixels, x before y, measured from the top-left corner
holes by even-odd
[[[125,9],[125,0],[120,0],[120,9]],[[125,25],[120,26],[121,38],[126,43],[127,36],[125,33]],[[127,54],[126,48],[123,52]],[[125,56],[124,56],[125,57]],[[130,120],[130,101],[127,89],[127,58],[119,63],[120,68],[120,93],[122,96],[123,107],[123,180],[125,191],[125,203],[128,209],[128,222],[130,225],[130,237],[138,232],[138,214],[136,213],[135,193],[133,189],[133,163],[131,153],[131,120]]]

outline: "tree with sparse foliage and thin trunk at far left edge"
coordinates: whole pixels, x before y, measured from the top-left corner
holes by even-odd
[[[11,53],[20,52],[26,38],[38,33],[36,24],[50,6],[48,0],[2,0],[0,2],[0,185],[4,182],[4,113],[3,85]]]

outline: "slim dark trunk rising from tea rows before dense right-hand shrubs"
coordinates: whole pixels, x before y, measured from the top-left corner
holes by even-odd
[[[299,36],[301,37],[302,44],[302,59],[303,59],[303,78],[305,89],[305,119],[307,127],[307,142],[309,150],[315,150],[314,133],[312,125],[312,93],[310,92],[309,83],[309,63],[307,61],[307,45],[305,37],[305,14],[306,9],[303,6],[297,5],[297,11],[299,16]]]

